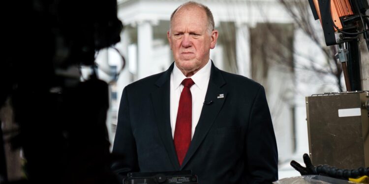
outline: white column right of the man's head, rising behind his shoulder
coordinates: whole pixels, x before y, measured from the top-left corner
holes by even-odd
[[[251,78],[250,32],[246,23],[236,23],[238,74]]]

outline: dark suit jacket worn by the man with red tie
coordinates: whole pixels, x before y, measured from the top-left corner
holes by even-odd
[[[212,63],[199,122],[182,166],[170,126],[170,68],[127,85],[122,94],[112,168],[127,172],[192,170],[199,184],[271,183],[277,143],[263,86]],[[217,98],[223,94],[224,98]]]

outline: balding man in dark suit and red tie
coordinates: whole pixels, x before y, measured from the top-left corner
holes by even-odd
[[[206,6],[187,2],[171,16],[175,62],[123,90],[113,153],[127,172],[192,170],[199,184],[277,180],[277,145],[264,88],[217,69],[218,37]],[[190,79],[188,79],[190,78]]]

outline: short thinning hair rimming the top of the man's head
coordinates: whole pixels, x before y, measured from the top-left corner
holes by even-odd
[[[198,3],[198,2],[194,2],[194,1],[188,1],[182,5],[180,5],[177,9],[175,9],[172,13],[172,15],[170,16],[170,27],[169,27],[169,31],[171,31],[172,29],[172,21],[173,18],[176,16],[177,12],[183,10],[183,9],[191,9],[191,8],[196,8],[196,7],[200,7],[201,9],[204,10],[204,13],[206,14],[207,17],[207,27],[208,27],[208,32],[209,34],[214,30],[214,18],[213,18],[213,14],[210,11],[210,9],[205,6],[204,4]]]

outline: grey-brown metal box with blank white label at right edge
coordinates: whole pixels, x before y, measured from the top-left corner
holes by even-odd
[[[369,92],[306,97],[310,158],[314,165],[369,167]]]

